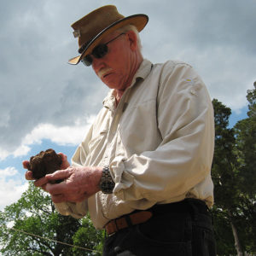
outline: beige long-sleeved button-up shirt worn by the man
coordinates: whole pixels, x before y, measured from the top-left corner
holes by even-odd
[[[116,107],[113,90],[73,155],[73,166],[110,166],[113,194],[61,203],[61,214],[96,228],[154,204],[193,197],[213,203],[214,119],[207,88],[188,64],[144,60]]]

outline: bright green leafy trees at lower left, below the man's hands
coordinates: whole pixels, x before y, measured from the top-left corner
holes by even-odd
[[[61,216],[49,195],[32,183],[19,201],[0,212],[0,225],[1,255],[100,255],[94,250],[101,248],[102,236],[90,219]],[[79,236],[84,229],[87,233]]]

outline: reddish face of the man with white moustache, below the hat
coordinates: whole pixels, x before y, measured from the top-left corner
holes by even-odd
[[[107,43],[120,33],[109,34],[103,38],[101,44]],[[134,32],[126,32],[109,43],[107,55],[100,59],[92,56],[92,67],[96,75],[111,89],[125,90],[131,85],[138,59],[135,57],[135,51],[132,50],[130,33]]]

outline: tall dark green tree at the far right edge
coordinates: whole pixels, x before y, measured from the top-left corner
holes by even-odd
[[[239,162],[240,210],[245,217],[243,236],[245,249],[256,252],[256,82],[247,90],[247,119],[235,125],[236,156]]]

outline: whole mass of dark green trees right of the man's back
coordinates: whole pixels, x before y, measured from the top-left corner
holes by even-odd
[[[232,129],[228,128],[230,108],[216,99],[212,101],[216,131],[212,214],[219,255],[236,254],[239,249],[256,252],[255,87],[256,83],[254,90],[247,91],[248,118],[238,121]]]

